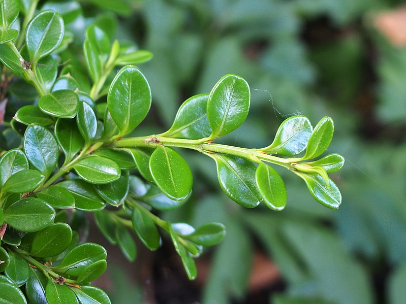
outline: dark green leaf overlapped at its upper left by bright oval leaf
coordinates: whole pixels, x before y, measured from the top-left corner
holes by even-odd
[[[114,182],[104,185],[95,185],[95,189],[99,195],[114,206],[120,205],[124,198],[127,197],[129,187],[128,171],[121,172],[120,178]]]

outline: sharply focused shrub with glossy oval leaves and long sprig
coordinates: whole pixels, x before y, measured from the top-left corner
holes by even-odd
[[[93,24],[86,29],[83,61],[60,63],[70,54],[67,25],[80,6],[49,3],[37,11],[37,4],[0,1],[0,93],[15,110],[10,121],[5,116],[0,137],[0,299],[110,302],[90,285],[105,271],[107,253],[79,242],[84,212],[95,214],[102,233],[129,260],[137,253],[132,230],[151,250],[165,232],[194,279],[194,258],[220,242],[225,227],[210,222],[194,228],[156,215],[180,207],[192,192],[191,168],[177,148],[211,157],[221,188],[246,208],[260,202],[285,208],[284,181],[269,164],[302,178],[322,205],[339,207],[341,195],[328,174],[343,158],[315,160],[330,145],[331,118],[313,128],[306,117],[292,116],[261,149],[216,144],[244,122],[251,102],[247,82],[229,74],[209,93],[187,99],[169,130],[131,137],[151,106],[149,84],[135,64],[152,55],[111,43]]]

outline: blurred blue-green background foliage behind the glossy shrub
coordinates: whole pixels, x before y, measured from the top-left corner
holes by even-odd
[[[339,210],[318,205],[297,178],[283,212],[246,210],[217,185],[215,165],[193,164],[192,198],[162,216],[198,226],[219,221],[227,237],[198,262],[189,282],[171,247],[116,257],[112,302],[403,303],[406,298],[406,8],[397,0],[83,0],[69,25],[81,46],[96,23],[154,54],[140,66],[153,111],[136,132],[167,129],[187,97],[221,76],[252,89],[247,121],[224,142],[264,147],[285,118],[335,122],[331,151],[345,156],[334,176]],[[74,60],[74,59],[73,59]],[[188,161],[189,162],[189,161]],[[96,230],[92,230],[96,231]],[[141,248],[142,246],[139,246]],[[110,251],[109,251],[110,252]],[[112,257],[114,259],[114,256]],[[135,274],[134,274],[135,273]],[[137,280],[137,285],[132,283]],[[134,287],[137,286],[137,287]]]

